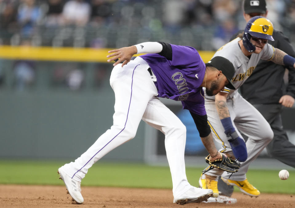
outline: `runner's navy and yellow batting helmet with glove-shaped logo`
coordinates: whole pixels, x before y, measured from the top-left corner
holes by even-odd
[[[273,23],[261,16],[255,16],[247,23],[243,34],[243,45],[249,51],[255,51],[255,46],[251,43],[250,37],[263,38],[270,41],[273,39]]]

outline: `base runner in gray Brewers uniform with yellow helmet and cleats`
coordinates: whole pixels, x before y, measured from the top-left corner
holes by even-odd
[[[261,113],[237,89],[253,73],[260,59],[295,66],[293,57],[267,43],[268,40],[273,40],[272,33],[273,25],[268,19],[253,17],[240,37],[222,46],[213,56],[225,57],[233,63],[236,71],[232,81],[236,90],[225,88],[224,92],[219,92],[216,96],[206,97],[208,123],[213,138],[222,145],[220,151],[242,162],[239,171],[233,175],[217,169],[201,175],[200,186],[212,189],[215,197],[219,195],[217,180],[221,175],[223,181],[239,187],[245,194],[254,197],[260,194],[248,182],[246,172],[250,163],[273,139],[273,131]],[[248,136],[246,143],[241,133]]]

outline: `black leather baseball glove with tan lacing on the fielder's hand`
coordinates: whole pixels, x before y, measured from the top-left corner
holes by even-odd
[[[205,173],[213,168],[218,168],[218,169],[226,171],[228,173],[235,173],[238,171],[238,169],[241,166],[241,163],[238,163],[237,161],[227,157],[225,154],[222,154],[222,153],[221,153],[221,159],[216,159],[214,161],[210,161],[209,157],[210,157],[210,155],[205,157],[205,161],[206,161],[206,163],[209,164],[210,167],[207,170],[203,171],[203,173]]]

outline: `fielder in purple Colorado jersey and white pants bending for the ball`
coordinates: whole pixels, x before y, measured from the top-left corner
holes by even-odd
[[[165,134],[173,203],[183,205],[207,200],[213,191],[191,186],[186,178],[186,128],[158,97],[181,101],[196,123],[209,159],[220,159],[207,123],[202,87],[211,96],[225,86],[235,89],[231,82],[233,64],[226,58],[215,57],[205,65],[196,49],[163,42],[145,42],[109,53],[112,53],[107,56],[109,62],[119,59],[110,76],[115,93],[114,124],[78,159],[58,169],[69,194],[76,202],[83,203],[80,185],[88,169],[115,147],[134,138],[139,122],[144,120]],[[131,60],[137,53],[148,54]]]

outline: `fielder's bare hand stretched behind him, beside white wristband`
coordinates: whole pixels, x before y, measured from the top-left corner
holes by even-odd
[[[108,59],[108,62],[110,61],[115,61],[116,59],[119,59],[118,61],[116,61],[113,66],[122,63],[122,67],[127,64],[131,57],[137,53],[137,48],[135,45],[132,45],[130,47],[123,47],[120,49],[114,49],[114,50],[110,50],[108,53],[112,53],[110,55],[107,55],[106,57],[110,58]]]

